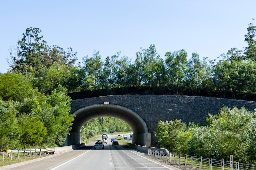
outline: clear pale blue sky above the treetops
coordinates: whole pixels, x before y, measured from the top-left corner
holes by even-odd
[[[76,51],[78,61],[99,51],[102,59],[121,51],[135,60],[140,47],[185,49],[217,59],[230,48],[244,50],[247,27],[256,19],[255,0],[10,0],[0,2],[0,72],[9,69],[8,48],[26,28],[37,27],[48,46]],[[256,21],[254,25],[256,24]]]

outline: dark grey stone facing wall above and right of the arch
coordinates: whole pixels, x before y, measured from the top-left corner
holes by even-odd
[[[195,122],[203,125],[208,113],[217,114],[222,106],[241,108],[245,106],[254,111],[256,103],[253,101],[232,100],[200,96],[180,95],[109,95],[95,98],[73,100],[71,113],[80,108],[94,104],[109,102],[135,111],[139,114],[151,132],[154,141],[154,131],[159,120],[170,121],[181,119],[183,122]]]

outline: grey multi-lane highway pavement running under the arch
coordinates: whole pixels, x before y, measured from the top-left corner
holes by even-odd
[[[35,159],[32,163],[24,163],[24,165],[16,167],[7,167],[8,170],[176,170],[172,166],[149,159],[143,156],[145,153],[127,146],[112,146],[110,141],[112,137],[108,137],[108,143],[104,145],[104,149],[95,150],[94,143],[96,140],[94,140],[90,145],[77,150]],[[2,169],[4,170],[4,167],[0,167],[0,170]]]

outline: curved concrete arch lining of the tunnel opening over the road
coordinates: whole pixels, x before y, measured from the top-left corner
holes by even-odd
[[[123,120],[131,127],[133,131],[132,143],[150,146],[151,134],[148,133],[146,122],[135,111],[124,106],[115,104],[94,104],[80,108],[73,114],[76,116],[65,145],[75,145],[80,143],[80,131],[83,125],[89,120],[97,117],[115,117]]]

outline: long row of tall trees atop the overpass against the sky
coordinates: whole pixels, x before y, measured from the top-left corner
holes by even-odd
[[[51,94],[62,85],[72,99],[165,94],[255,101],[256,28],[249,24],[247,31],[244,51],[231,48],[215,60],[200,59],[197,53],[188,56],[184,49],[167,51],[163,59],[153,44],[140,48],[135,61],[121,56],[121,51],[104,56],[102,61],[99,51],[94,50],[75,66],[77,53],[72,48],[65,51],[57,45],[48,46],[39,36],[39,28],[27,28],[17,48],[10,49],[8,62],[11,73],[31,77],[39,92]]]

